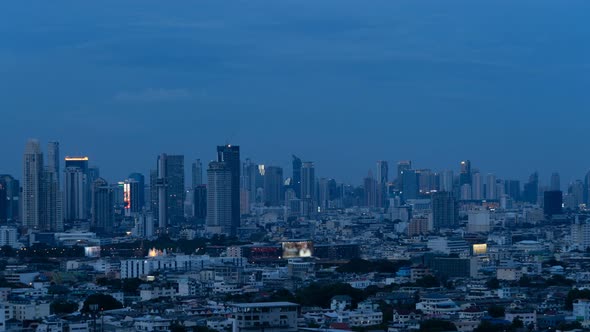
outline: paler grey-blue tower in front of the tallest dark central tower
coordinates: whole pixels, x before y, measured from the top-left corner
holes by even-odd
[[[225,162],[212,161],[207,169],[207,231],[236,234],[232,213],[232,169]]]

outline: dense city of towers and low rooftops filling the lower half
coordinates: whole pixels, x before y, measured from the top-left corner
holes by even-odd
[[[223,145],[190,181],[161,154],[149,181],[109,182],[46,150],[30,140],[22,177],[0,175],[0,332],[590,327],[590,176],[562,192],[557,173],[379,161],[354,186]],[[330,285],[329,303],[298,296]]]

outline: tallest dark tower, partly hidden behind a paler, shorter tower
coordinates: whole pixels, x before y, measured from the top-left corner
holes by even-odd
[[[217,161],[224,162],[231,172],[231,235],[237,235],[240,221],[240,147],[237,145],[221,145],[217,147]]]

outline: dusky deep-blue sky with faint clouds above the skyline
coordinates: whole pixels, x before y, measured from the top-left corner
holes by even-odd
[[[562,184],[590,168],[587,0],[0,3],[0,173],[28,138],[110,181],[166,152],[360,183],[376,160]],[[188,169],[187,165],[187,169]],[[392,167],[391,172],[394,172]]]

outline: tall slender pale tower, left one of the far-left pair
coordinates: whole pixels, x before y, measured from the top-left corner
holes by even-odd
[[[22,225],[29,229],[37,229],[41,221],[41,181],[43,176],[43,154],[39,141],[29,140],[27,142],[23,161]]]

